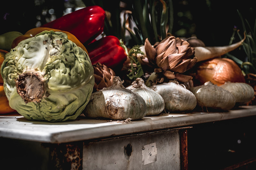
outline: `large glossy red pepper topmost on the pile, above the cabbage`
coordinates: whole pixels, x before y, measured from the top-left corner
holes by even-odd
[[[86,45],[103,32],[105,17],[105,11],[94,5],[66,14],[41,27],[70,32]]]

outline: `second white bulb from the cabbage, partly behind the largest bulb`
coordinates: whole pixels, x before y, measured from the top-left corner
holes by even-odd
[[[132,92],[139,94],[144,99],[147,105],[146,116],[158,115],[164,110],[163,97],[147,87],[142,78],[137,78],[126,89],[132,90]]]

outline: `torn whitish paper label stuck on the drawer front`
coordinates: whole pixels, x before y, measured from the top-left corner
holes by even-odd
[[[156,162],[157,148],[156,143],[142,146],[142,165]]]

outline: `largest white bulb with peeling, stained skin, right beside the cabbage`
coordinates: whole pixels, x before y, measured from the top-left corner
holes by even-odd
[[[137,93],[126,89],[124,81],[113,78],[113,86],[103,88],[91,95],[83,113],[87,117],[104,117],[113,120],[141,119],[146,115],[146,103]]]

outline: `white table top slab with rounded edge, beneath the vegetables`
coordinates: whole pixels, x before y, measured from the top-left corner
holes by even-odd
[[[66,122],[30,121],[19,114],[0,115],[0,137],[45,143],[65,143],[125,134],[191,126],[256,115],[256,106],[240,106],[226,112],[161,113],[140,120],[89,119],[83,115]]]

